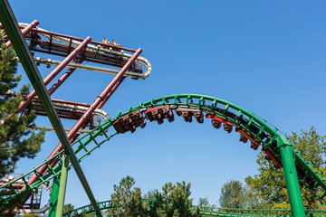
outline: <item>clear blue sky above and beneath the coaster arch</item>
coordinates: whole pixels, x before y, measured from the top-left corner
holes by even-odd
[[[125,80],[103,108],[110,117],[128,106],[170,94],[198,93],[250,110],[284,133],[312,126],[324,135],[326,16],[324,1],[9,1],[18,22],[77,37],[104,36],[142,48],[153,71],[147,80]],[[51,68],[53,70],[53,67]],[[50,71],[40,68],[46,76]],[[20,72],[24,74],[22,68]],[[75,71],[54,99],[91,103],[111,75]],[[29,82],[24,75],[24,82]],[[38,118],[37,124],[47,124]],[[73,121],[63,121],[65,127]],[[131,175],[143,193],[167,182],[192,184],[192,197],[216,203],[222,184],[257,173],[257,151],[211,127],[181,118],[114,137],[82,161],[97,200],[110,199],[113,184]],[[34,160],[57,146],[46,135]],[[76,175],[69,174],[66,203],[88,204]]]

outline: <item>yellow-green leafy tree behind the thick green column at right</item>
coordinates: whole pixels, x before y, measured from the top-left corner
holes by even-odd
[[[325,136],[319,136],[312,127],[309,131],[302,130],[300,135],[292,132],[289,140],[294,150],[302,151],[301,156],[306,162],[312,162],[315,170],[326,172],[323,161],[326,153]],[[275,169],[273,162],[265,160],[264,156],[262,151],[256,160],[259,174],[246,177],[245,182],[255,192],[256,200],[264,205],[268,204],[273,209],[290,209],[283,169]],[[320,201],[312,192],[302,189],[302,199],[306,209],[322,209]]]

